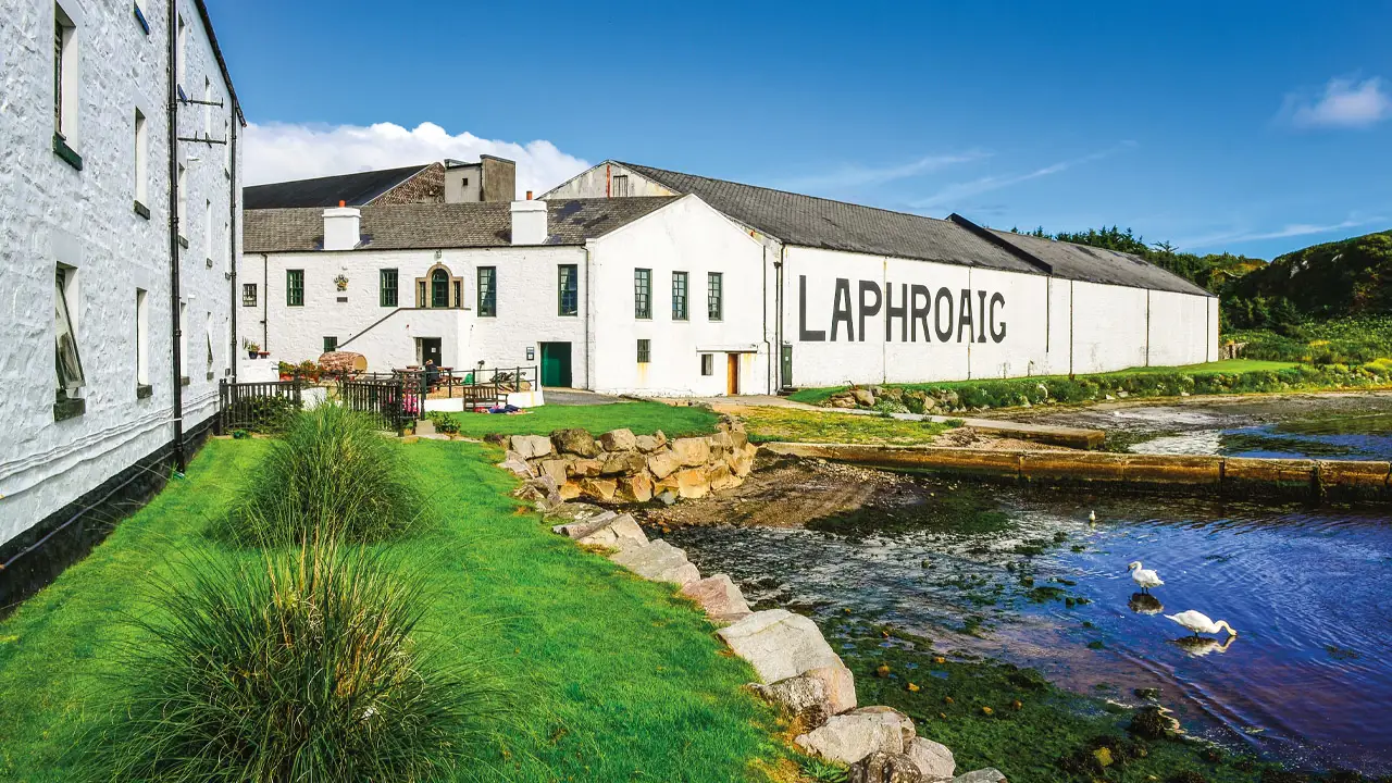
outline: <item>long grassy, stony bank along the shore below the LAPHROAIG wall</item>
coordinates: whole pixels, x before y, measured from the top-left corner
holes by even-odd
[[[1250,394],[1327,389],[1392,386],[1392,362],[1368,365],[1304,365],[1295,362],[1232,359],[1178,368],[1134,368],[1118,372],[1068,376],[1012,378],[1005,380],[955,380],[945,383],[885,385],[880,410],[922,407],[924,398],[951,410],[1005,408],[1048,403],[1093,403],[1119,397],[1180,397],[1186,394]],[[802,389],[800,403],[825,404],[848,386]],[[917,411],[913,411],[917,412]]]

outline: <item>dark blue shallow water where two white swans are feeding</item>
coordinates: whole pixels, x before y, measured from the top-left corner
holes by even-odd
[[[1093,509],[1097,525],[1086,521]],[[942,651],[1036,666],[1123,702],[1160,687],[1187,730],[1229,747],[1392,773],[1392,524],[1382,511],[924,479],[812,528],[690,527],[667,538],[764,606],[883,619]],[[1132,560],[1165,580],[1154,591],[1162,609],[1136,598]],[[1164,614],[1186,609],[1239,635],[1180,641],[1187,631]]]

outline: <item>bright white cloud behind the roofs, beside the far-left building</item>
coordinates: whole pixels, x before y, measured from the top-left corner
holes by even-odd
[[[248,185],[433,163],[445,157],[473,162],[483,153],[516,160],[518,194],[536,191],[540,195],[590,167],[548,141],[515,144],[483,139],[468,131],[450,135],[434,123],[420,123],[415,130],[393,123],[367,127],[252,123],[246,127],[245,144],[242,181]]]

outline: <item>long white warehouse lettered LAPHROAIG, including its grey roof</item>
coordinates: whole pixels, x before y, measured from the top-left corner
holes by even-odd
[[[757,240],[770,389],[1218,358],[1218,300],[1141,258],[608,160],[543,199],[696,195]]]

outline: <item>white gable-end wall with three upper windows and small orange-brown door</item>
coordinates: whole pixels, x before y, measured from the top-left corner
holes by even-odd
[[[717,396],[728,354],[739,354],[739,393],[767,394],[763,245],[696,196],[685,196],[590,242],[594,389],[640,396]],[[633,270],[651,269],[651,318],[635,316]],[[672,318],[672,273],[688,274],[688,319]],[[722,274],[721,319],[707,309],[709,273]],[[650,362],[638,364],[638,340]],[[713,372],[702,375],[702,354]]]

